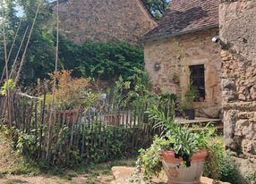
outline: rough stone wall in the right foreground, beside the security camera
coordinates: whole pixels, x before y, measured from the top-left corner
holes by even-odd
[[[256,171],[256,1],[222,1],[219,12],[226,148],[245,178]]]

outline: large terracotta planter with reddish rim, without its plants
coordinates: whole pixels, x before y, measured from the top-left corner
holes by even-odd
[[[194,154],[191,166],[186,167],[182,164],[182,158],[175,158],[173,151],[163,152],[162,162],[168,177],[168,184],[200,184],[207,155],[207,151]]]

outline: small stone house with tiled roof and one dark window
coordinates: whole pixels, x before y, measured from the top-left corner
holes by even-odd
[[[156,91],[186,93],[190,81],[199,89],[198,116],[218,118],[221,112],[218,0],[172,0],[158,27],[144,45],[145,68]]]

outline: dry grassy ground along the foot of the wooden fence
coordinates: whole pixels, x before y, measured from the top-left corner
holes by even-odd
[[[38,168],[25,164],[0,133],[1,184],[109,184],[114,180],[111,167],[120,165],[134,165],[134,160],[101,163],[90,168],[81,165],[74,170],[64,171],[62,175],[50,171],[43,174]]]

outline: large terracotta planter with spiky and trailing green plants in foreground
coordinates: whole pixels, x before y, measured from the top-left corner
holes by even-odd
[[[209,155],[208,142],[215,130],[206,129],[195,133],[175,122],[173,117],[169,118],[158,111],[157,107],[148,113],[149,120],[156,122],[155,128],[164,131],[148,149],[140,150],[133,177],[139,176],[138,173],[142,171],[143,180],[151,180],[164,169],[168,184],[200,184],[204,163]]]

